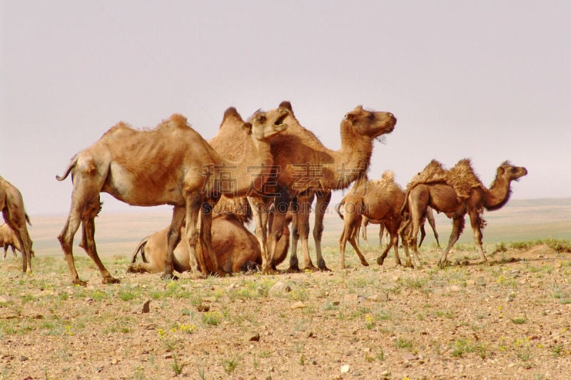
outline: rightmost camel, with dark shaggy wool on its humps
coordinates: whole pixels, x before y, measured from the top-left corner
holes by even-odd
[[[447,265],[448,252],[453,247],[464,229],[464,217],[468,213],[472,225],[474,242],[483,262],[487,262],[482,247],[482,228],[485,220],[482,213],[485,210],[498,210],[510,199],[511,183],[527,175],[527,169],[504,161],[496,170],[495,179],[490,188],[484,185],[475,175],[469,159],[458,161],[454,168],[445,170],[443,165],[432,160],[423,170],[415,175],[407,186],[405,202],[401,213],[410,212],[412,232],[410,245],[413,247],[414,265],[420,267],[416,236],[420,220],[430,206],[437,212],[444,212],[453,220],[453,228],[448,240],[448,246],[443,250],[438,260],[438,267]]]

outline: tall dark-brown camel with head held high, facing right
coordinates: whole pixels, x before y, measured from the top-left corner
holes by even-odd
[[[270,248],[269,262],[275,255],[278,241],[283,231],[286,212],[294,200],[290,267],[288,271],[298,272],[297,237],[301,240],[304,269],[316,270],[309,256],[309,214],[313,197],[315,204],[315,224],[313,239],[318,268],[327,270],[321,254],[323,216],[331,198],[331,190],[347,188],[350,183],[363,175],[370,164],[373,152],[373,139],[390,133],[395,128],[396,118],[389,112],[366,111],[357,106],[348,112],[340,123],[341,148],[330,150],[309,130],[303,128],[293,114],[291,104],[280,104],[290,113],[285,119],[289,128],[271,142],[274,165],[278,167],[273,225],[268,237]],[[265,268],[273,272],[275,268]]]

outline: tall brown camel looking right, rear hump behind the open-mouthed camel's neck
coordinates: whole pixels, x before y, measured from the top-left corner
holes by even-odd
[[[284,101],[280,107],[288,108],[290,114],[285,118],[288,130],[271,141],[271,151],[274,157],[272,180],[268,180],[262,192],[251,193],[248,196],[256,221],[256,236],[263,252],[263,272],[276,272],[276,250],[280,244],[280,237],[287,224],[286,215],[292,198],[295,198],[296,212],[293,213],[293,245],[290,256],[290,271],[299,271],[298,259],[295,253],[297,239],[300,236],[305,259],[305,269],[315,270],[309,257],[308,232],[309,209],[315,191],[318,190],[318,205],[315,214],[315,250],[318,267],[327,269],[321,255],[321,233],[323,232],[323,215],[330,200],[330,189],[346,188],[369,165],[373,150],[373,138],[390,133],[396,123],[391,113],[370,112],[358,106],[347,113],[341,123],[342,146],[340,150],[333,151],[325,148],[318,138],[309,130],[303,128],[293,115],[291,104]],[[210,141],[213,147],[228,158],[236,156],[236,152],[243,150],[243,141],[236,138],[236,125],[228,120],[228,124],[221,126],[221,130]],[[235,123],[234,123],[235,124]],[[270,169],[270,168],[268,168]],[[269,204],[277,197],[279,205],[276,211],[276,227],[271,227],[271,239],[266,244],[266,225]],[[298,216],[299,215],[299,216]],[[299,233],[298,233],[299,232]],[[268,253],[264,250],[268,247]],[[264,257],[267,257],[265,260]]]

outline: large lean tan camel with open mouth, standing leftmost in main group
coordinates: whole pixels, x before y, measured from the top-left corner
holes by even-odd
[[[228,108],[224,118],[237,114]],[[241,196],[252,188],[261,188],[267,175],[264,165],[273,163],[268,141],[287,128],[288,110],[276,108],[254,113],[243,123],[245,150],[239,161],[226,160],[193,130],[183,115],[174,114],[151,130],[135,130],[120,122],[108,130],[91,147],[77,153],[63,176],[72,174],[69,216],[58,239],[74,284],[85,285],[77,274],[72,245],[81,223],[82,247],[96,263],[103,284],[116,283],[98,257],[94,240],[94,219],[101,208],[99,192],[137,206],[173,205],[173,218],[168,230],[168,251],[163,279],[173,276],[173,250],[185,225],[185,240],[191,252],[193,277],[208,274],[204,256],[210,257],[219,275],[219,267],[211,245],[211,210],[221,194]],[[202,211],[202,212],[201,212]],[[201,227],[197,229],[198,215]],[[205,255],[197,255],[196,242],[201,240]],[[200,269],[199,266],[200,265]]]

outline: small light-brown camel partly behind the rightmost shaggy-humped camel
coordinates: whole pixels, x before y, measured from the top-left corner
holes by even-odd
[[[339,238],[342,268],[345,268],[345,245],[347,245],[347,241],[350,242],[355,252],[357,252],[361,264],[369,265],[355,242],[355,235],[358,235],[357,229],[363,215],[369,219],[383,222],[390,234],[390,243],[378,257],[378,264],[383,265],[390,247],[393,247],[395,250],[395,261],[397,265],[400,265],[398,228],[402,221],[400,206],[403,205],[404,200],[405,192],[395,183],[394,174],[390,170],[385,171],[380,180],[369,181],[366,177],[362,177],[355,181],[353,188],[337,205],[337,212],[343,219],[343,232]],[[341,206],[343,206],[344,214],[340,212]],[[405,255],[407,257],[407,265],[410,265],[410,257],[406,245]]]

